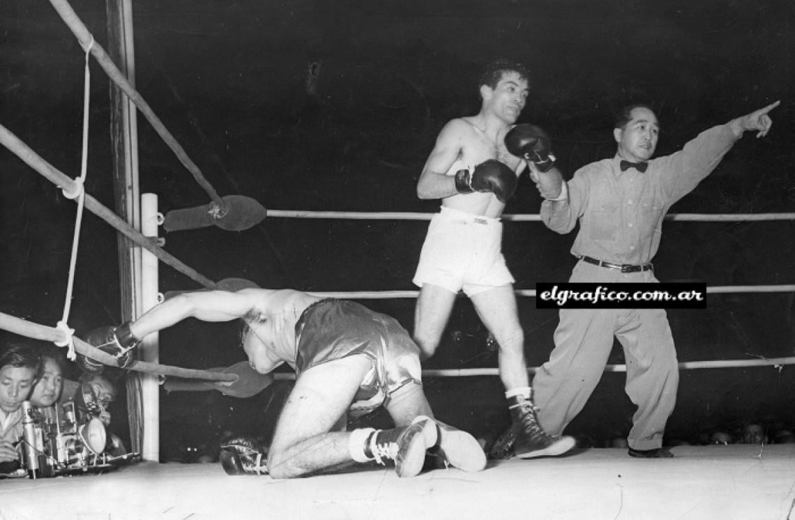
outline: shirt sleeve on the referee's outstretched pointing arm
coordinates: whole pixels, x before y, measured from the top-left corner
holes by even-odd
[[[712,173],[737,139],[728,123],[714,126],[701,132],[677,153],[653,161],[667,203],[673,204],[692,192]]]

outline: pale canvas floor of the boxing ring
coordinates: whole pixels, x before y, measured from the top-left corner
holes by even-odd
[[[33,518],[792,518],[795,445],[682,446],[635,460],[618,448],[500,460],[484,471],[399,479],[389,468],[273,480],[217,464],[141,463],[107,475],[0,483],[0,514]]]

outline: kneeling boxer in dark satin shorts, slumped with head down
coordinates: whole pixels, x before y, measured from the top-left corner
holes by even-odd
[[[323,299],[292,289],[181,293],[113,331],[103,350],[129,363],[146,335],[185,318],[242,319],[242,347],[255,371],[287,363],[296,383],[264,450],[251,440],[222,446],[227,473],[305,476],[351,462],[393,460],[397,475],[417,475],[426,452],[464,471],[479,471],[486,456],[470,434],[434,420],[421,385],[420,349],[390,316],[352,301]],[[347,412],[384,406],[394,429],[335,431]]]

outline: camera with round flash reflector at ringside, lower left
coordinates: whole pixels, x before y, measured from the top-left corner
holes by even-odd
[[[31,479],[114,467],[114,457],[104,453],[108,434],[102,421],[94,415],[80,421],[74,402],[45,414],[25,401],[22,426],[21,466]]]

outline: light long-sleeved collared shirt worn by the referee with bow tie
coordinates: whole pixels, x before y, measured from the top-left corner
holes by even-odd
[[[715,126],[677,153],[650,160],[646,173],[622,172],[618,156],[585,165],[568,181],[564,200],[541,204],[541,220],[561,234],[580,221],[572,246],[577,258],[649,263],[660,245],[665,213],[712,173],[737,139],[728,124]]]

